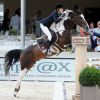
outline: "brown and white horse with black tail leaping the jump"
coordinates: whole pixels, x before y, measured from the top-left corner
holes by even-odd
[[[79,25],[86,31],[88,30],[88,24],[82,13],[68,9],[66,9],[64,13],[65,17],[63,17],[62,21],[57,25],[53,23],[50,27],[55,32],[54,34],[57,33],[56,35],[52,35],[52,47],[58,50],[57,54],[65,50],[65,46],[71,43],[72,30],[75,29],[76,25]],[[15,97],[20,90],[20,84],[25,74],[33,67],[36,61],[48,56],[48,43],[46,43],[46,39],[41,37],[37,39],[37,41],[36,44],[30,45],[24,50],[14,49],[8,51],[5,55],[5,75],[8,75],[11,66],[20,61],[21,71],[14,89]]]

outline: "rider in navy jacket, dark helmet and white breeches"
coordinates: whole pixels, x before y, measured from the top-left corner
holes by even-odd
[[[57,4],[56,9],[48,17],[40,21],[40,28],[43,31],[43,33],[46,34],[47,41],[49,43],[52,40],[52,35],[49,28],[53,22],[57,24],[62,20],[62,18],[65,16],[63,12],[64,12],[63,4]]]

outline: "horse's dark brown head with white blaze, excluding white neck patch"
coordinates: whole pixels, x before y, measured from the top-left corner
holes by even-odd
[[[67,18],[68,19],[64,22],[65,28],[73,28],[78,25],[86,32],[89,30],[89,25],[79,9],[74,9],[72,12],[69,12]]]

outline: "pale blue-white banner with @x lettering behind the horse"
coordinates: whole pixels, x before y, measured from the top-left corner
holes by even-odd
[[[9,77],[4,75],[4,58],[0,58],[0,80],[17,80],[20,64],[16,63],[11,69]],[[37,81],[75,81],[74,59],[43,59],[37,61],[23,80]]]

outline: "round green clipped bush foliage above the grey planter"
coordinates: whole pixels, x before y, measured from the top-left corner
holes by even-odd
[[[81,71],[79,82],[82,86],[100,86],[100,70],[93,66],[87,66]]]

